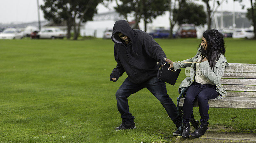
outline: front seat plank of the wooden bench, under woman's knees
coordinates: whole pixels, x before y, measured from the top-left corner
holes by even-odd
[[[184,98],[180,99],[179,106],[182,107]],[[216,108],[250,108],[256,109],[256,100],[247,101],[247,100],[227,100],[227,99],[211,99],[208,100],[209,107]],[[198,101],[194,102],[194,107],[198,107]]]

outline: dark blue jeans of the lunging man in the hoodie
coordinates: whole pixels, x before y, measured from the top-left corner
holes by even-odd
[[[121,118],[123,118],[128,124],[133,123],[134,116],[132,116],[132,114],[129,112],[127,98],[131,94],[140,91],[143,88],[147,88],[151,93],[153,93],[153,95],[155,95],[155,97],[164,106],[173,123],[179,127],[180,123],[182,122],[182,118],[178,116],[177,107],[167,94],[165,82],[157,79],[157,77],[152,77],[148,81],[141,84],[132,83],[127,78],[124,80],[124,83],[116,91],[117,109],[121,113]]]

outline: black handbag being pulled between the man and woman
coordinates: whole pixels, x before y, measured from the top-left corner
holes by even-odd
[[[174,85],[180,74],[180,69],[174,70],[174,68],[171,68],[171,70],[168,70],[168,68],[170,67],[170,64],[168,63],[165,63],[163,67],[161,67],[161,64],[159,64],[159,62],[157,62],[157,65],[157,78],[166,83]]]

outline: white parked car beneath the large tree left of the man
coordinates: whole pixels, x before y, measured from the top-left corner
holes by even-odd
[[[60,28],[44,28],[42,31],[38,32],[39,38],[61,38],[66,37],[66,32],[62,31]]]

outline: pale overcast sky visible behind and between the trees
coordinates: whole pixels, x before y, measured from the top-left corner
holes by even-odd
[[[37,21],[37,0],[0,0],[0,23],[10,22],[31,22]],[[212,0],[213,1],[213,0]],[[199,2],[200,4],[204,3]],[[39,0],[39,4],[44,4],[43,0]],[[243,0],[242,4],[245,5],[245,9],[242,10],[238,2],[235,2],[235,10],[238,12],[246,12],[246,9],[250,7],[250,0]],[[113,10],[115,3],[110,4],[109,9]],[[212,3],[210,4],[212,5]],[[98,5],[98,13],[108,12],[109,9],[102,4]],[[220,10],[221,7],[219,7]],[[225,11],[233,11],[233,0],[228,0],[228,3],[224,2],[222,9]],[[44,14],[40,10],[40,18],[44,20]]]

